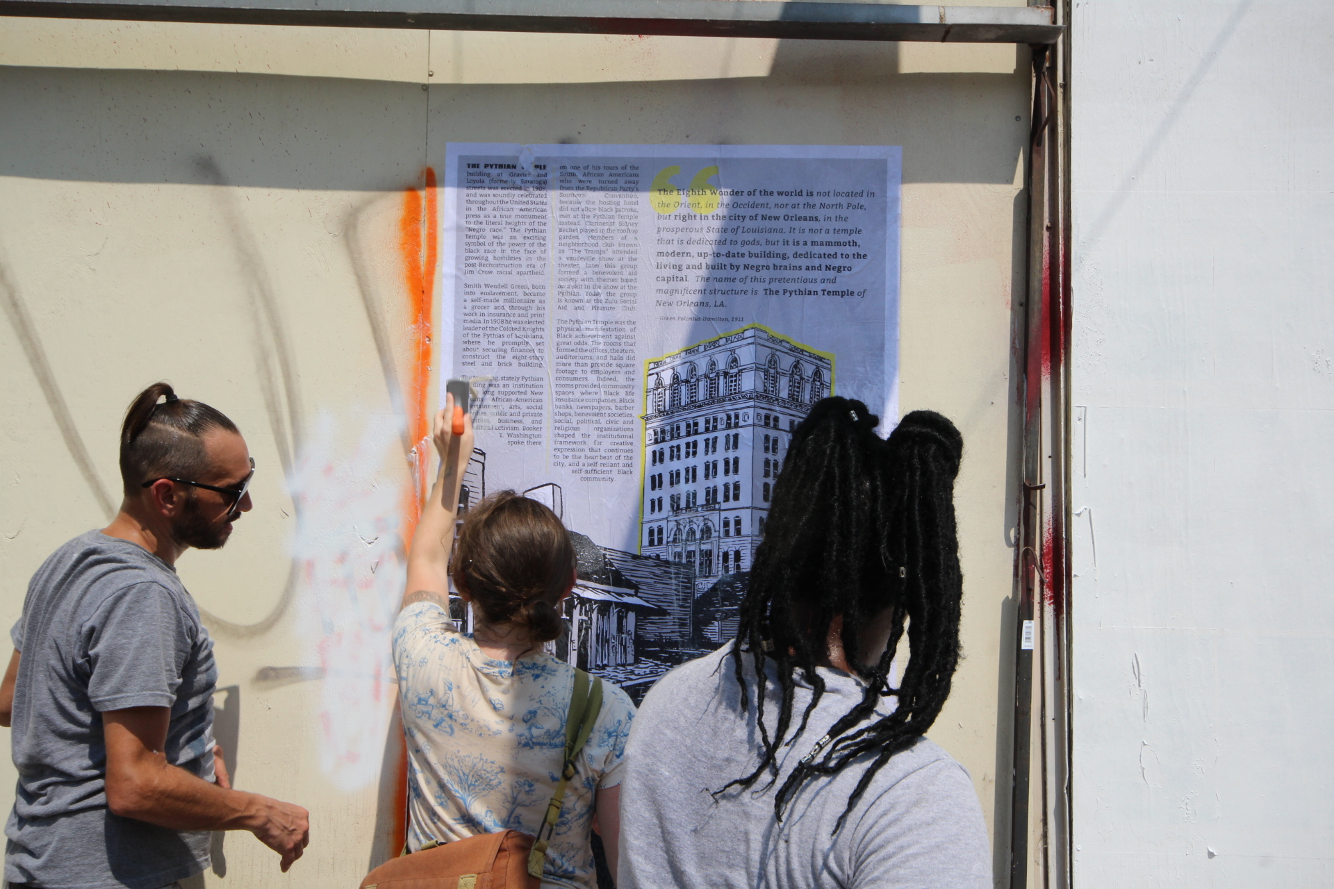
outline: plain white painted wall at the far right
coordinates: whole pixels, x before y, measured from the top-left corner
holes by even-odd
[[[1074,27],[1075,885],[1331,885],[1334,4]]]

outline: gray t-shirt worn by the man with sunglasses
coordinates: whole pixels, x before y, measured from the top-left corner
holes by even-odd
[[[19,660],[5,878],[48,889],[159,889],[209,864],[209,833],[107,809],[101,713],[168,706],[167,761],[213,780],[213,642],[175,569],[91,530],[28,584]]]

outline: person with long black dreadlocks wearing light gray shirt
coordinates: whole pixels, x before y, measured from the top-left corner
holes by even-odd
[[[991,885],[972,782],[922,737],[959,658],[963,440],[931,412],[888,440],[878,423],[860,401],[812,408],[736,638],[644,697],[626,748],[619,889]]]

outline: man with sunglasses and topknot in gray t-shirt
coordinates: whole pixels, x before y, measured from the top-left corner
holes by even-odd
[[[253,473],[236,425],[207,404],[157,383],[129,405],[120,512],[47,558],[11,630],[11,886],[175,886],[209,865],[211,830],[252,832],[284,872],[301,856],[305,809],[231,788],[213,642],[175,569],[227,542]]]

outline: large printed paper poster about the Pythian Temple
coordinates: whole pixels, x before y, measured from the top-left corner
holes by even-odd
[[[472,381],[467,501],[524,492],[574,533],[559,656],[639,700],[716,649],[810,407],[836,392],[898,419],[899,161],[447,147],[442,372]]]

